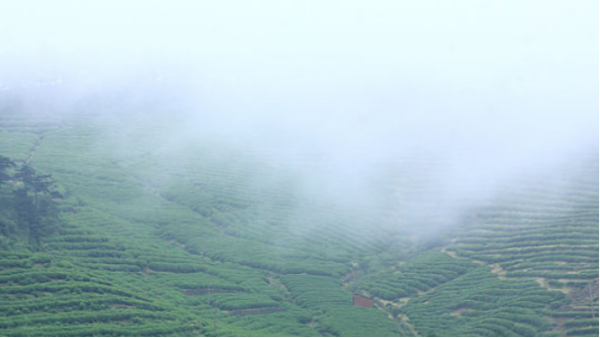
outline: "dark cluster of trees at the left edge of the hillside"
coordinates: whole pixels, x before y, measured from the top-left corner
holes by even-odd
[[[50,175],[41,175],[27,163],[18,164],[0,155],[0,233],[26,236],[39,246],[52,233],[58,220],[62,195]]]

